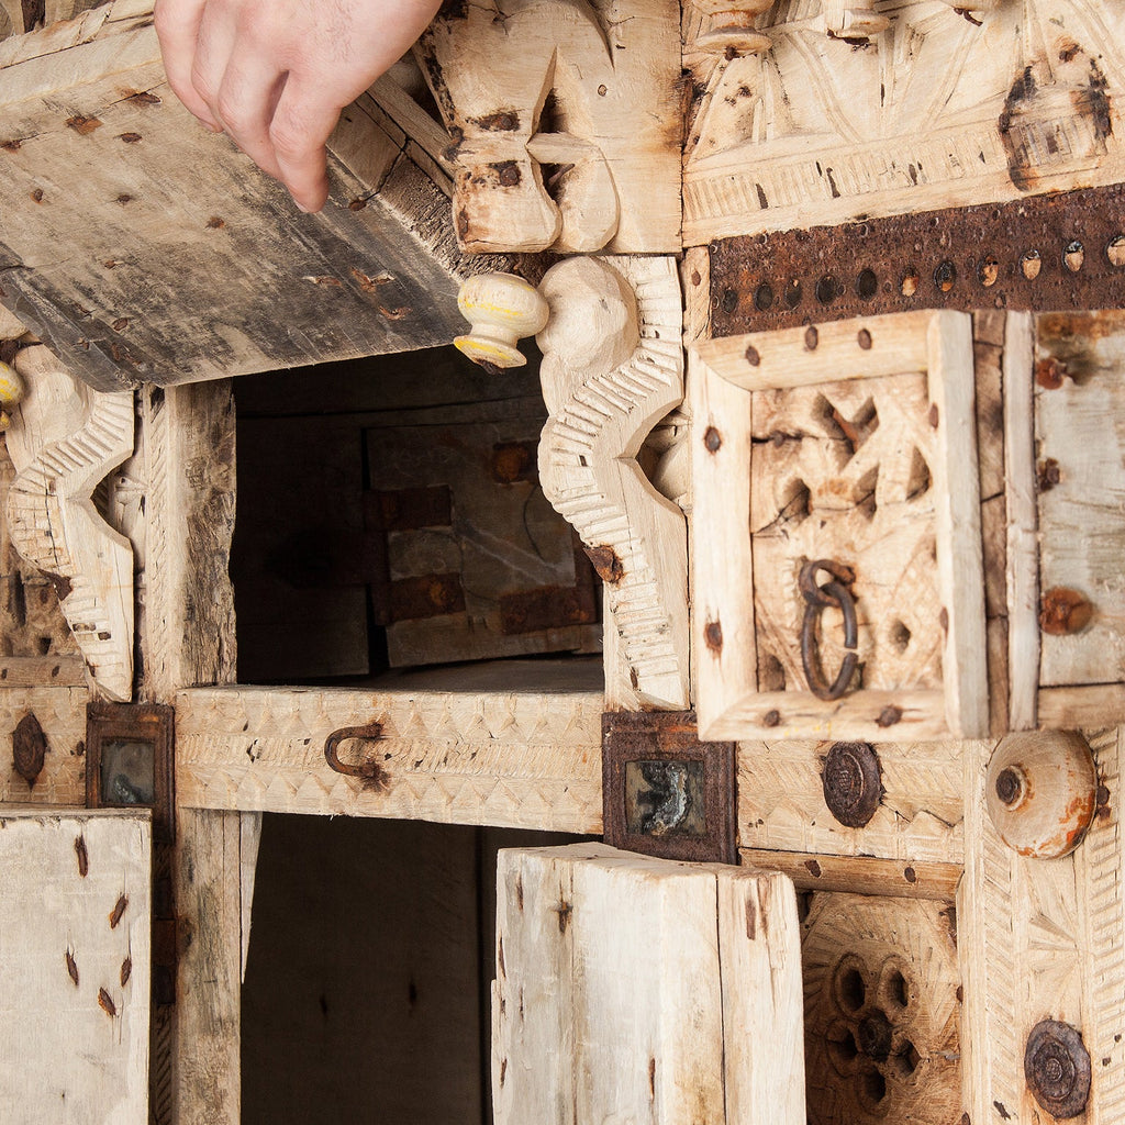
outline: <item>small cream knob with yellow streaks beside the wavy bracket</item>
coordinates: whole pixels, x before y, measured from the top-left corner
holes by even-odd
[[[457,307],[472,327],[453,344],[485,367],[523,367],[528,361],[516,342],[540,332],[548,316],[536,287],[514,273],[469,278],[457,295]]]

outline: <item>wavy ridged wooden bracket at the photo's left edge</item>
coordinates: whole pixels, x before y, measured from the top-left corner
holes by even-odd
[[[133,394],[74,379],[43,345],[16,369],[27,396],[12,414],[8,532],[28,562],[54,577],[63,613],[100,692],[133,693],[133,549],[91,494],[133,452]]]

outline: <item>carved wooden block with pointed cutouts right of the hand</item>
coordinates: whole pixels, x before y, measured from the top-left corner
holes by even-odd
[[[454,140],[464,249],[680,249],[677,4],[447,6],[418,52]]]

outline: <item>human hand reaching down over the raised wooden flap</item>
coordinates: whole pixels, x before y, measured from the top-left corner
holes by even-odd
[[[156,0],[168,81],[302,210],[328,197],[340,110],[422,34],[440,0]]]

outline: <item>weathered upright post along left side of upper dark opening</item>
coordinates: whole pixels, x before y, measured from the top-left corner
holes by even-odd
[[[234,397],[227,381],[141,395],[146,699],[234,678]]]

